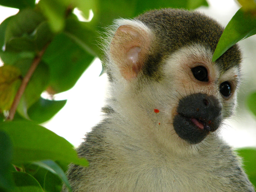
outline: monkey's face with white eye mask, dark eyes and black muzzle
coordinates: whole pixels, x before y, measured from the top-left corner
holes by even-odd
[[[218,66],[200,45],[183,48],[165,61],[164,76],[172,80],[168,84],[175,87],[176,98],[170,121],[176,134],[191,144],[216,131],[235,107],[239,69]]]

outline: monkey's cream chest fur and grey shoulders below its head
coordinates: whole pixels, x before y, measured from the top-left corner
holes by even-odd
[[[249,181],[230,148],[211,136],[205,142],[210,149],[177,155],[116,131],[109,121],[94,127],[78,148],[90,166],[71,165],[74,191],[250,191],[241,187]]]

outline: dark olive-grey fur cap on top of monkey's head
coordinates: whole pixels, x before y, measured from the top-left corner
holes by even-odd
[[[148,75],[154,73],[154,68],[164,56],[184,46],[199,44],[213,53],[224,30],[219,23],[204,14],[178,9],[152,10],[135,19],[145,23],[156,36],[156,42],[153,43],[155,54],[148,55],[148,63],[145,65]],[[229,48],[216,61],[223,71],[239,67],[240,62],[241,53],[237,45]]]

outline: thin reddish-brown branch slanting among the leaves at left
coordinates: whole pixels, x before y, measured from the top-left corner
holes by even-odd
[[[35,72],[36,67],[38,66],[38,64],[39,64],[40,61],[42,60],[42,57],[43,57],[43,55],[44,55],[44,52],[45,52],[45,50],[47,49],[47,47],[48,47],[49,44],[50,44],[50,43],[46,44],[46,45],[44,46],[44,48],[43,48],[40,52],[38,52],[38,54],[37,54],[36,57],[34,58],[34,60],[33,60],[32,64],[31,64],[31,66],[30,66],[30,68],[28,69],[28,73],[27,73],[26,76],[23,78],[22,83],[21,83],[21,85],[20,85],[20,88],[19,88],[19,90],[17,91],[17,93],[16,93],[16,95],[15,95],[15,98],[14,98],[13,103],[12,103],[12,107],[11,107],[11,109],[10,109],[10,111],[9,111],[9,115],[8,115],[8,117],[6,118],[6,120],[10,120],[10,121],[13,120],[14,115],[15,115],[15,112],[16,112],[16,109],[17,109],[17,107],[18,107],[18,105],[19,105],[19,102],[20,102],[20,99],[21,99],[21,97],[22,97],[22,95],[23,95],[23,93],[24,93],[24,91],[25,91],[25,89],[26,89],[26,87],[27,87],[27,84],[28,84],[28,82],[29,82],[31,76],[32,76],[33,73]]]

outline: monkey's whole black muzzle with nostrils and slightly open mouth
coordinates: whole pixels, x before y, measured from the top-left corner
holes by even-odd
[[[173,127],[180,138],[191,144],[200,143],[216,131],[221,122],[220,102],[213,96],[202,93],[182,98],[173,119]]]

